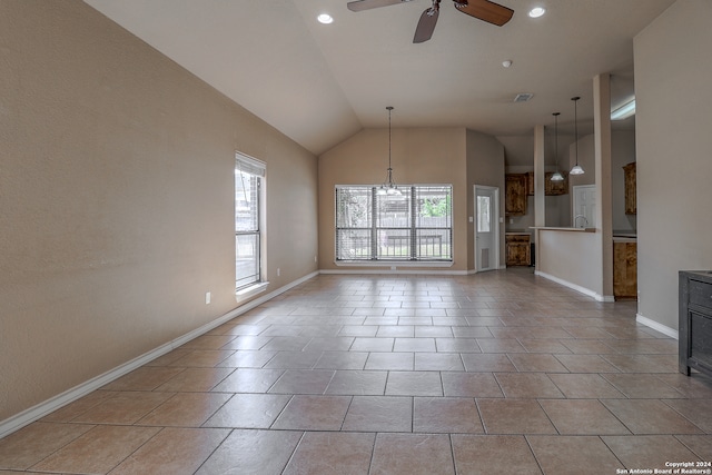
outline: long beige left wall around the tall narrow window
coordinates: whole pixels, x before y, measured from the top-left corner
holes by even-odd
[[[0,50],[0,420],[237,306],[236,149],[269,289],[317,269],[303,148],[78,0],[3,0]]]

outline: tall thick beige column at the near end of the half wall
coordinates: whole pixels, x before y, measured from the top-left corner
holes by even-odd
[[[611,191],[611,75],[593,78],[596,222],[601,234],[602,295],[613,299],[613,204]]]

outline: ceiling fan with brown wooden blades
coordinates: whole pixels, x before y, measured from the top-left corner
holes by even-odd
[[[346,6],[352,11],[363,11],[408,1],[412,0],[355,0],[349,1]],[[455,8],[463,13],[467,13],[487,23],[496,24],[497,27],[502,27],[510,21],[514,14],[514,10],[490,0],[453,0],[453,2],[455,3]],[[422,43],[431,39],[435,30],[435,23],[437,23],[439,11],[441,0],[433,0],[433,6],[426,9],[421,16],[418,26],[415,29],[415,36],[413,37],[414,43]]]

